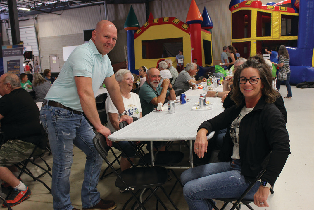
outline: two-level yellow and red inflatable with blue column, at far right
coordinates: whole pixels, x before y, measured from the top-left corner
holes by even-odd
[[[280,3],[231,0],[231,43],[242,57],[264,47],[285,45],[290,54],[291,84],[314,81],[314,1]]]

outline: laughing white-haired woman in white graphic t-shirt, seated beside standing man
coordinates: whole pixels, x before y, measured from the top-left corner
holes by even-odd
[[[124,108],[127,110],[128,115],[131,117],[141,118],[142,108],[139,97],[137,94],[130,92],[133,87],[131,71],[127,69],[120,69],[116,72],[115,77],[120,86]],[[112,103],[110,96],[108,96],[106,100],[106,113],[108,120],[107,128],[109,128],[112,133],[119,130],[120,116],[115,105]],[[112,146],[118,149],[116,144],[119,144],[126,155],[133,161],[136,154],[134,148],[127,141],[119,141],[118,143],[113,142]],[[131,163],[123,154],[120,161],[120,167],[121,171],[131,167]]]

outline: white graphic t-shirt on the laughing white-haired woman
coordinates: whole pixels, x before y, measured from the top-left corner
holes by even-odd
[[[127,111],[128,115],[130,117],[137,117],[139,118],[140,113],[142,112],[142,108],[141,108],[141,101],[139,100],[139,97],[136,93],[132,93],[130,92],[131,97],[129,99],[124,98],[122,96],[123,99],[123,104],[124,104],[124,109]],[[107,113],[107,128],[111,131],[111,132],[115,132],[116,129],[112,126],[110,120],[109,120],[109,115],[108,113],[116,113],[118,114],[118,120],[120,120],[120,116],[118,113],[118,110],[116,109],[115,105],[113,104],[110,95],[108,95],[108,98],[106,99],[106,113]]]

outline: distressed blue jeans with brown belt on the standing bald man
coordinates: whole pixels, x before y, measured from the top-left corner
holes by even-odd
[[[53,156],[52,196],[54,210],[71,210],[70,181],[73,145],[86,155],[84,181],[81,190],[82,207],[89,208],[100,201],[97,191],[102,158],[93,145],[95,136],[85,117],[55,106],[43,106],[41,124],[48,133]]]

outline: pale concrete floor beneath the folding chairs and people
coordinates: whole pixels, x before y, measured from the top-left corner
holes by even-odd
[[[280,93],[282,96],[287,95],[287,90],[284,85],[281,86]],[[296,210],[296,209],[313,209],[311,199],[312,189],[314,184],[311,180],[313,173],[313,162],[310,155],[313,153],[313,129],[314,123],[314,89],[299,89],[292,86],[292,99],[284,99],[284,103],[288,112],[287,130],[290,136],[291,155],[289,156],[283,171],[281,172],[275,184],[273,195],[268,197],[269,207],[261,208],[252,204],[254,209],[273,209],[273,210]],[[186,148],[183,148],[186,151]],[[74,207],[82,209],[80,189],[84,176],[84,163],[85,156],[78,148],[73,150],[73,165],[71,169],[71,201]],[[109,154],[109,156],[111,156]],[[188,156],[188,155],[186,155]],[[111,156],[112,157],[112,156]],[[45,156],[46,161],[52,166],[52,156]],[[38,160],[38,162],[40,162]],[[106,163],[102,166],[102,171],[106,168]],[[31,167],[32,171],[38,171],[38,167]],[[102,173],[101,171],[101,173]],[[176,170],[178,175],[183,170]],[[173,176],[172,176],[173,177]],[[22,176],[23,182],[28,185],[32,191],[32,195],[20,203],[12,207],[14,210],[39,210],[39,209],[52,209],[52,195],[40,183],[33,182],[27,175]],[[45,175],[42,178],[48,186],[51,186],[51,178]],[[98,190],[101,197],[104,199],[113,199],[117,203],[116,209],[121,209],[124,202],[130,197],[129,193],[120,193],[115,187],[116,177],[110,175],[103,180],[99,181]],[[164,187],[167,192],[170,191],[175,178],[167,182]],[[2,193],[2,192],[1,192]],[[160,191],[158,195],[162,196]],[[182,195],[182,187],[177,185],[175,192],[171,198],[176,203],[177,207],[181,210],[188,209],[188,206]],[[169,202],[165,202],[169,209],[174,209]],[[219,203],[222,205],[222,203]],[[152,199],[146,205],[147,209],[155,209],[155,202]],[[163,209],[159,206],[159,209]],[[248,209],[242,206],[241,209]]]

